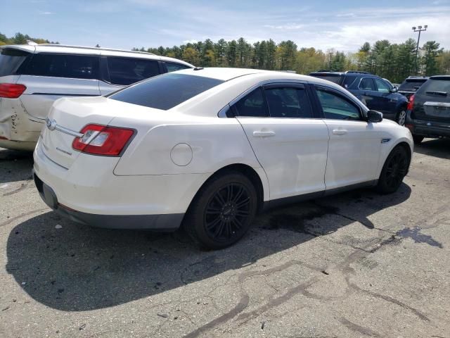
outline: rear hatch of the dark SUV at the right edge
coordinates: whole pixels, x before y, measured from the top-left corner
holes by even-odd
[[[450,76],[432,76],[418,89],[411,118],[450,122]]]

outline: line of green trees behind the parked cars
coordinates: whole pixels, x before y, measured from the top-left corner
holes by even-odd
[[[48,39],[34,38],[22,33],[6,37],[0,32],[0,46],[5,44],[26,44],[27,40],[37,44],[53,43]],[[98,46],[98,44],[97,44]],[[308,74],[316,70],[363,70],[401,82],[409,75],[450,74],[450,51],[440,48],[439,43],[428,41],[419,48],[416,60],[415,39],[407,39],[401,44],[379,40],[373,44],[365,42],[354,53],[328,49],[321,51],[313,47],[298,47],[291,40],[274,42],[273,39],[253,44],[243,37],[226,41],[182,44],[180,46],[158,48],[134,48],[160,56],[179,58],[202,67],[239,67],[267,70],[295,70],[298,74]]]

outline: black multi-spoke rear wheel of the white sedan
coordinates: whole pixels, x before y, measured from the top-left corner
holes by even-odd
[[[184,228],[200,246],[226,248],[248,232],[257,202],[255,186],[245,175],[231,171],[212,177],[189,206]]]

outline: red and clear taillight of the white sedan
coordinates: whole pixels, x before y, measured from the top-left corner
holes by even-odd
[[[86,125],[72,142],[72,148],[86,154],[117,156],[134,135],[134,130],[107,125]]]

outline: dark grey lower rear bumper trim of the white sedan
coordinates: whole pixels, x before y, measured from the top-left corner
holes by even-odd
[[[42,182],[36,173],[33,173],[33,177],[39,195],[45,204],[63,217],[80,224],[108,229],[174,231],[179,228],[184,218],[184,213],[160,215],[97,215],[94,213],[83,213],[60,204],[53,189]]]

